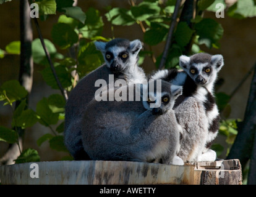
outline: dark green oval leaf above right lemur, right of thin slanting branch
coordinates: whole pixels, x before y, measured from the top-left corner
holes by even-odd
[[[184,47],[189,44],[193,33],[194,31],[189,28],[186,22],[179,22],[174,33],[174,39],[176,40],[177,44]]]

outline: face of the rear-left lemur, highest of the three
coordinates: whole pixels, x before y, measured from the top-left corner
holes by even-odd
[[[95,46],[101,51],[106,65],[113,73],[122,73],[130,66],[134,66],[142,49],[142,43],[137,39],[130,42],[127,39],[116,38],[109,42],[95,42]]]

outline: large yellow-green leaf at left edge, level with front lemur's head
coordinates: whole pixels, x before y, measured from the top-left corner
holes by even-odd
[[[25,98],[28,94],[25,87],[20,86],[20,82],[17,80],[6,81],[0,87],[1,94],[4,95],[4,100],[7,103],[12,104],[16,100],[21,100]]]

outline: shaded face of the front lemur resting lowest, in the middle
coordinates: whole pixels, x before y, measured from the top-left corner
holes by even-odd
[[[150,79],[148,84],[141,86],[143,106],[153,115],[163,115],[172,109],[175,99],[182,94],[182,86],[171,85],[161,79]]]

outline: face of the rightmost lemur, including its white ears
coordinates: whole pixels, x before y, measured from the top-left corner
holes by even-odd
[[[216,80],[223,63],[222,55],[195,54],[191,57],[181,55],[179,65],[199,86],[207,86]]]

